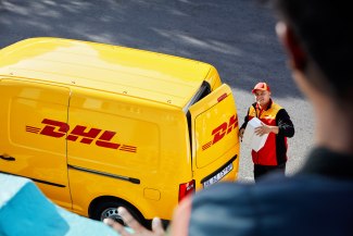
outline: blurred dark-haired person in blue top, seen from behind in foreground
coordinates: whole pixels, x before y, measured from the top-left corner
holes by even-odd
[[[353,235],[353,14],[350,1],[272,0],[292,76],[314,105],[315,148],[291,177],[217,184],[186,198],[168,235]],[[135,235],[164,235],[124,210]],[[122,235],[123,226],[106,220]]]

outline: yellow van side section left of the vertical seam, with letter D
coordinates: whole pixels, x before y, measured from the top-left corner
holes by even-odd
[[[70,89],[13,79],[0,82],[0,172],[31,178],[71,209],[66,165]],[[59,125],[59,126],[58,126]]]

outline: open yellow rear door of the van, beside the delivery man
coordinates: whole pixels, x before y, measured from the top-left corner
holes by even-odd
[[[224,84],[192,104],[192,171],[197,188],[222,179],[235,181],[238,172],[239,126],[231,89]],[[237,160],[236,162],[234,162]]]

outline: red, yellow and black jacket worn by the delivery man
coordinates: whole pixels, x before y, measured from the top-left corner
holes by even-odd
[[[287,162],[287,137],[293,137],[294,125],[290,120],[287,111],[277,103],[269,101],[266,110],[261,110],[259,104],[253,103],[240,128],[245,128],[248,122],[257,117],[266,125],[278,126],[278,134],[269,133],[267,140],[262,149],[257,152],[252,150],[251,156],[254,164],[261,165],[279,165]]]

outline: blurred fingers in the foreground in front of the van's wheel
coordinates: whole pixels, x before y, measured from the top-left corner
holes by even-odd
[[[104,219],[104,223],[114,228],[122,236],[164,236],[165,232],[162,226],[161,219],[154,218],[152,221],[152,231],[143,227],[133,215],[125,209],[118,208],[118,214],[123,218],[124,222],[134,231],[133,233],[125,229],[124,225],[115,222],[112,219]]]

